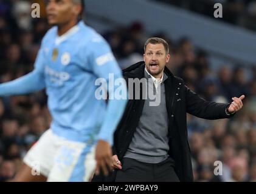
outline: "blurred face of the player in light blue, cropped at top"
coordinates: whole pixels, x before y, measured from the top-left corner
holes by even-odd
[[[47,0],[46,12],[50,25],[66,24],[77,19],[81,6],[72,0]]]

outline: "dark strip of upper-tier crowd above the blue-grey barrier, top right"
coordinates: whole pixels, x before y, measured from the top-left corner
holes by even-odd
[[[159,0],[157,0],[159,1]],[[216,8],[214,5],[223,5],[223,18],[221,21],[240,27],[256,30],[256,1],[255,0],[160,0],[178,7],[213,18]],[[218,18],[220,19],[220,18]]]

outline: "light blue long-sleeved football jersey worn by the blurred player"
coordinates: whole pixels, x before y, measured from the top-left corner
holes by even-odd
[[[58,36],[57,30],[53,27],[44,36],[33,72],[1,84],[0,95],[46,87],[53,118],[51,129],[56,135],[73,141],[103,139],[112,144],[112,133],[126,100],[112,100],[107,109],[104,99],[95,98],[99,87],[95,80],[108,81],[109,73],[122,78],[122,71],[105,39],[83,21],[62,36]]]

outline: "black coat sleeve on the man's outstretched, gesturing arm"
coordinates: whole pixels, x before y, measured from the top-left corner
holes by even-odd
[[[209,102],[185,86],[187,113],[203,119],[224,119],[234,116],[227,115],[226,108],[229,104]]]

